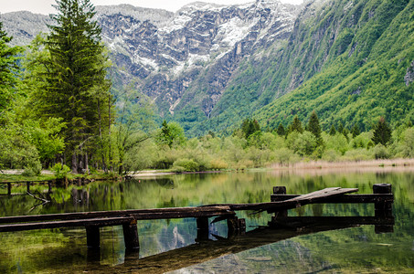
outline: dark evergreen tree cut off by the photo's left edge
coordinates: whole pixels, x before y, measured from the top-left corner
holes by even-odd
[[[0,119],[16,93],[16,74],[19,70],[17,55],[23,51],[21,47],[7,45],[12,38],[7,37],[7,33],[3,30],[3,23],[0,22]]]

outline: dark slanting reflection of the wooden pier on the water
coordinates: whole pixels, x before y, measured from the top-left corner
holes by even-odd
[[[345,216],[345,217],[279,217],[269,224],[249,232],[229,232],[228,237],[212,235],[217,240],[208,239],[208,232],[200,231],[196,244],[185,248],[176,248],[164,253],[139,258],[139,250],[126,251],[124,263],[111,268],[114,272],[139,271],[145,273],[165,273],[175,269],[183,269],[220,258],[228,254],[236,254],[252,248],[276,243],[292,237],[313,234],[322,231],[359,227],[362,225],[393,226],[393,216]],[[100,265],[100,252],[90,249],[88,254],[89,270],[108,270]]]

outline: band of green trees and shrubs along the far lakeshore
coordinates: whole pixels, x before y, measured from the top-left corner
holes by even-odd
[[[0,22],[0,169],[197,172],[414,156],[410,122],[390,128],[381,117],[361,132],[360,123],[327,120],[324,132],[315,111],[308,121],[296,116],[276,127],[250,117],[188,139],[178,122],[157,117],[133,84],[112,88],[109,50],[90,1],[62,0],[57,8],[50,33],[27,47],[9,46]]]

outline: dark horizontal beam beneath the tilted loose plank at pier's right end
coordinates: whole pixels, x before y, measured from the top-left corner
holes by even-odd
[[[271,195],[271,202],[286,201],[300,195]],[[377,203],[380,201],[392,202],[394,195],[392,194],[367,194],[367,195],[340,195],[337,197],[326,198],[323,202],[311,202],[310,204],[360,204],[360,203]]]

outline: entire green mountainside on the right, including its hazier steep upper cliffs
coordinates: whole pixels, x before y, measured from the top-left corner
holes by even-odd
[[[309,4],[287,45],[275,45],[261,60],[240,66],[211,119],[190,132],[226,131],[249,115],[274,129],[295,115],[304,121],[312,111],[324,130],[339,122],[368,130],[379,116],[393,126],[413,121],[413,5]]]

